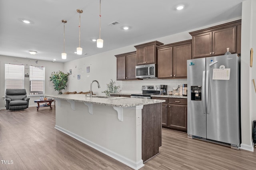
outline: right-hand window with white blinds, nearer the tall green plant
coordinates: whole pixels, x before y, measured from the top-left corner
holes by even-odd
[[[29,66],[30,95],[44,94],[45,67]]]

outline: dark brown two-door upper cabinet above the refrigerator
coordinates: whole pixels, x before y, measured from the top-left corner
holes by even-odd
[[[192,36],[192,58],[241,53],[241,20],[189,33]]]

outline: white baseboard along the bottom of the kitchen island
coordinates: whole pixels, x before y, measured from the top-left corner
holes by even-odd
[[[87,140],[85,138],[82,138],[81,136],[78,136],[64,128],[61,128],[57,125],[55,125],[55,127],[57,130],[60,130],[61,132],[71,136],[72,138],[75,138],[76,140],[79,140],[80,142],[87,144],[88,146],[110,156],[111,158],[114,158],[115,160],[118,160],[119,162],[122,162],[123,164],[126,164],[127,166],[130,166],[131,168],[138,170],[140,169],[142,166],[144,166],[142,159],[138,162],[134,162],[124,156],[121,156],[120,154],[117,154],[115,152],[112,152],[111,150],[108,150],[107,148],[104,148],[94,142],[91,142],[90,140]]]

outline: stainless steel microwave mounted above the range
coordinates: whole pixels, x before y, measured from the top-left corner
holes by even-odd
[[[136,65],[136,78],[157,78],[156,64]]]

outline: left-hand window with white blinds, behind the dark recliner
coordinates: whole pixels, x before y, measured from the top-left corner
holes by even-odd
[[[24,89],[24,65],[5,64],[4,91]]]

